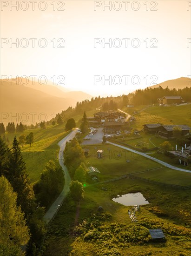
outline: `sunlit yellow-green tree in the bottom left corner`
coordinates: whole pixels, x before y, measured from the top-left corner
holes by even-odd
[[[21,245],[29,241],[24,214],[16,203],[17,194],[8,180],[0,177],[0,255],[20,256]]]

